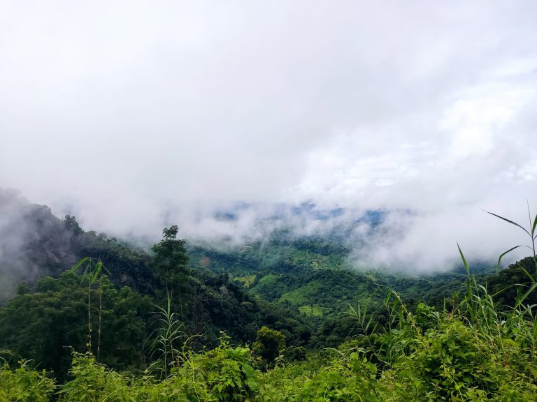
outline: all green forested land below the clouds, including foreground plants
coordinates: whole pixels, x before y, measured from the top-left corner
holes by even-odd
[[[0,216],[0,401],[537,398],[535,257],[415,277],[285,230],[146,250],[11,191]]]

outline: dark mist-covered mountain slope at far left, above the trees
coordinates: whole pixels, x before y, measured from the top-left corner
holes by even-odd
[[[148,255],[114,237],[85,232],[74,216],[57,218],[46,205],[32,204],[16,191],[0,189],[0,300],[17,283],[58,276],[81,258],[106,261],[118,285],[148,292]]]

